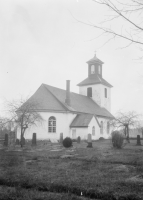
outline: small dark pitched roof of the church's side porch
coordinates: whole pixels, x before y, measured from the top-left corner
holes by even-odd
[[[74,118],[70,127],[88,127],[92,118],[93,118],[93,115],[91,114],[78,114]]]

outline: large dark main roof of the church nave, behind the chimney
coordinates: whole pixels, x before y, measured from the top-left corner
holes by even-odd
[[[102,117],[114,118],[105,108],[101,108],[91,98],[70,92],[71,106],[65,103],[66,91],[42,84],[29,98],[29,102],[37,102],[37,111],[88,113]],[[27,101],[27,102],[28,102]]]

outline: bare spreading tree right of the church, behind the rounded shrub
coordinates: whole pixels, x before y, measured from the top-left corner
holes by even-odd
[[[127,113],[119,112],[114,120],[110,122],[111,126],[116,129],[123,129],[125,137],[129,141],[129,128],[139,127],[140,115],[134,111]]]

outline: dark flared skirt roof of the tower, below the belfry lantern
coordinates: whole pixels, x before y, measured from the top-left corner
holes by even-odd
[[[103,85],[106,85],[108,87],[113,87],[110,83],[108,83],[105,79],[103,79],[99,75],[94,75],[93,78],[86,78],[85,80],[83,80],[82,82],[80,82],[78,84],[78,86],[93,85],[93,84],[103,84]]]

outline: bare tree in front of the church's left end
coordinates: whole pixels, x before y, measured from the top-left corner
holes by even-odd
[[[15,122],[21,130],[21,147],[26,129],[38,123],[42,123],[43,118],[38,112],[38,103],[29,100],[14,100],[7,103],[9,118]]]

